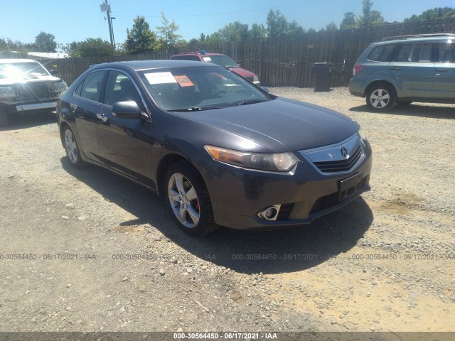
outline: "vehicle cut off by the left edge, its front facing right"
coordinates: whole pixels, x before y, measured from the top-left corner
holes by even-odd
[[[0,126],[21,113],[55,110],[67,85],[30,59],[0,59]]]

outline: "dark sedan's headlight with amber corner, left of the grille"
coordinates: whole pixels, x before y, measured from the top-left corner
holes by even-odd
[[[261,171],[289,172],[299,162],[293,153],[249,153],[215,146],[205,146],[205,150],[217,161]]]

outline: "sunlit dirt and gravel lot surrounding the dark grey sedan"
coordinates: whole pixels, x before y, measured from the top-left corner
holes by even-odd
[[[309,226],[193,239],[147,190],[72,169],[52,114],[0,131],[0,331],[455,332],[455,106],[271,91],[358,121],[373,190]]]

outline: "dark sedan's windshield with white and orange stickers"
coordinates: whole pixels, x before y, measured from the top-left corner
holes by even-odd
[[[156,103],[167,111],[218,109],[272,99],[223,67],[169,67],[140,75]]]

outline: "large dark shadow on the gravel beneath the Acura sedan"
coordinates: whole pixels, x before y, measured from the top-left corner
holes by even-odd
[[[70,175],[137,217],[132,221],[119,222],[120,226],[151,224],[198,259],[244,274],[276,274],[309,269],[348,252],[373,222],[373,212],[360,197],[341,210],[301,227],[262,232],[220,228],[206,237],[194,238],[178,229],[164,201],[149,190],[103,168],[75,169],[67,158],[61,158],[61,163]],[[153,251],[153,241],[151,244]]]

